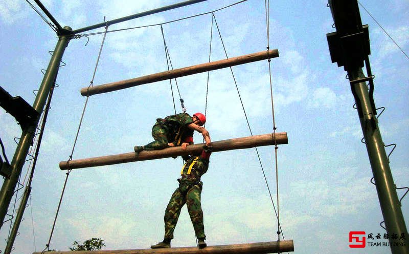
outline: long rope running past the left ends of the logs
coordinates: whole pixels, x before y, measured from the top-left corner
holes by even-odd
[[[105,20],[105,17],[104,17],[104,20]],[[107,30],[108,30],[109,24],[105,21],[105,25],[106,25],[106,26],[105,26],[104,37],[102,38],[102,43],[101,43],[101,47],[100,47],[100,50],[99,50],[99,53],[98,53],[98,58],[97,58],[97,62],[96,62],[96,65],[95,65],[94,74],[93,74],[92,80],[90,81],[90,84],[89,84],[89,86],[88,86],[88,89],[89,89],[89,87],[92,87],[92,86],[93,86],[95,74],[96,74],[97,68],[98,68],[99,59],[100,59],[100,57],[101,57],[102,48],[103,48],[104,43],[105,43],[105,37],[106,37],[106,34],[107,34]],[[86,109],[86,106],[87,106],[87,103],[88,103],[88,99],[89,99],[89,95],[87,94],[86,100],[85,100],[85,103],[84,103],[84,108],[83,108],[83,110],[82,110],[82,114],[81,114],[81,118],[80,118],[80,123],[79,123],[78,129],[77,129],[77,134],[76,134],[76,136],[75,136],[73,149],[71,150],[71,154],[70,154],[70,156],[69,156],[69,160],[67,160],[67,165],[69,165],[69,162],[73,159],[73,154],[74,154],[75,146],[76,146],[76,144],[77,144],[78,135],[79,135],[79,132],[80,132],[80,129],[81,129],[81,124],[82,124],[82,120],[83,120],[83,118],[84,118],[85,109]],[[65,177],[64,185],[63,185],[63,187],[62,187],[61,197],[60,197],[60,200],[59,200],[59,202],[58,202],[58,207],[57,207],[57,211],[56,211],[56,214],[55,214],[55,217],[54,217],[53,226],[52,226],[52,228],[51,228],[50,238],[49,238],[48,243],[46,244],[46,248],[44,248],[44,250],[43,250],[41,253],[46,252],[46,250],[48,250],[48,248],[50,247],[50,243],[51,243],[51,239],[52,239],[52,236],[53,236],[55,224],[56,224],[56,222],[57,222],[58,213],[59,213],[59,210],[60,210],[60,207],[61,207],[61,203],[62,203],[62,198],[63,198],[64,193],[65,193],[65,187],[66,187],[66,184],[67,184],[67,181],[68,181],[68,177],[70,176],[70,173],[71,173],[71,171],[72,171],[72,169],[70,169],[70,167],[67,167],[67,168],[68,168],[68,169],[67,169],[67,172],[65,173],[66,177]]]

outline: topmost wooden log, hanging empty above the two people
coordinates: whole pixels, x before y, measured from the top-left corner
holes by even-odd
[[[226,67],[236,66],[247,64],[248,62],[260,61],[264,59],[278,57],[279,53],[277,49],[268,50],[268,51],[261,51],[258,53],[243,55],[243,56],[236,56],[228,59],[213,61],[213,62],[206,62],[205,64],[150,74],[138,78],[126,79],[112,83],[100,84],[94,87],[85,87],[81,89],[81,95],[93,95],[93,94],[101,94],[107,93],[112,91],[117,91],[125,88],[139,86],[140,84],[147,84],[157,81],[162,81],[171,78],[178,78],[187,75],[192,75],[200,72],[207,72],[213,71],[217,69],[222,69]]]

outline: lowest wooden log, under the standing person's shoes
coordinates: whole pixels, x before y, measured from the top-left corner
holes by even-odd
[[[80,250],[80,251],[47,251],[47,254],[267,254],[277,252],[294,251],[292,240],[261,242],[261,243],[243,243],[229,245],[214,245],[199,249],[198,247],[177,247],[163,249],[120,249],[120,250]],[[41,252],[33,252],[41,254]]]

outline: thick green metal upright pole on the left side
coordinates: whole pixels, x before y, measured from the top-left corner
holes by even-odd
[[[70,27],[64,27],[64,29],[72,31]],[[40,89],[33,103],[34,110],[39,113],[43,110],[44,104],[46,104],[46,99],[51,90],[51,87],[54,84],[62,55],[64,54],[65,48],[67,47],[70,39],[71,36],[66,35],[60,36],[58,38],[58,43],[55,47],[53,56],[51,57],[47,72],[42,79]],[[0,228],[3,226],[4,218],[6,217],[7,209],[10,205],[10,201],[14,194],[14,189],[21,174],[22,166],[25,163],[30,145],[33,142],[34,133],[37,128],[38,121],[39,118],[36,119],[34,124],[28,126],[22,131],[20,141],[18,142],[14,157],[10,164],[12,170],[10,179],[6,179],[4,181],[2,189],[0,190]]]

